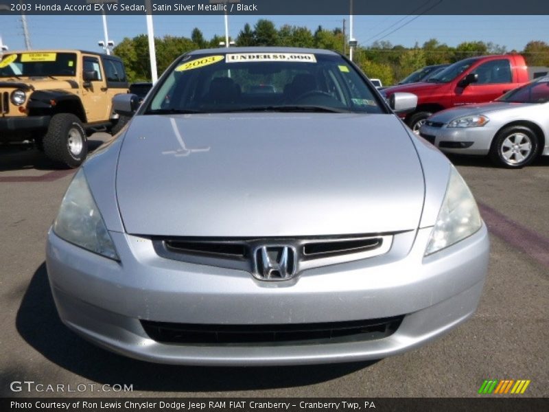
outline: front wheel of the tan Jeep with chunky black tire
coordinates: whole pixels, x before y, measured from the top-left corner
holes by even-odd
[[[49,159],[78,168],[88,154],[86,132],[80,119],[69,113],[51,117],[43,146]]]

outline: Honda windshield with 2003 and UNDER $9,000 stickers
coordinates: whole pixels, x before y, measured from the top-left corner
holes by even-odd
[[[183,56],[144,114],[237,111],[386,113],[341,56],[255,52]]]

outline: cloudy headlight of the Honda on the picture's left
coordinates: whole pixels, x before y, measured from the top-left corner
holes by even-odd
[[[65,193],[54,222],[57,236],[106,258],[119,260],[103,218],[80,169]]]

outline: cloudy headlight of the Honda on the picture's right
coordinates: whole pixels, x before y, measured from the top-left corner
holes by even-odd
[[[425,255],[449,247],[482,227],[475,199],[465,181],[452,167],[439,216],[436,218]]]

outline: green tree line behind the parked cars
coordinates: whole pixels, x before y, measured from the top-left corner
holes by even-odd
[[[175,58],[195,49],[220,47],[224,37],[215,35],[204,38],[197,28],[190,38],[165,36],[155,38],[156,64],[162,73]],[[322,26],[312,32],[307,27],[282,25],[277,28],[270,20],[261,19],[251,27],[244,25],[234,39],[237,46],[288,46],[330,49],[349,55],[349,45],[339,27],[327,30]],[[505,46],[484,41],[463,42],[456,47],[440,43],[436,38],[414,47],[393,45],[388,41],[376,41],[370,45],[358,45],[353,51],[353,61],[371,78],[379,78],[383,84],[394,84],[421,67],[452,63],[463,58],[486,54],[520,53],[530,66],[549,66],[549,44],[530,41],[523,50],[508,51]],[[148,37],[145,34],[124,38],[114,49],[126,66],[130,82],[150,81]]]

